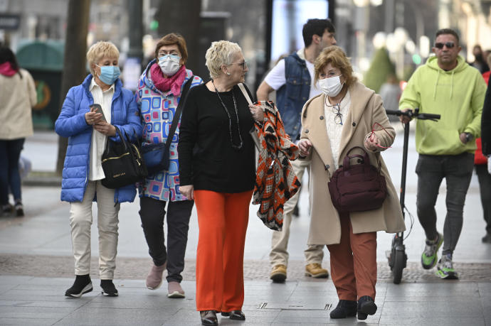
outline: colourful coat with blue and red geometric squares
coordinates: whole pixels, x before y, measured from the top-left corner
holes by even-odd
[[[152,82],[150,67],[156,62],[152,60],[147,69],[142,73],[138,82],[138,90],[135,94],[139,112],[142,116],[143,124],[143,143],[142,146],[149,143],[165,143],[169,134],[172,119],[176,112],[177,105],[181,99],[178,94],[175,96],[169,92],[160,92]],[[191,70],[186,70],[186,78],[181,86],[193,75]],[[194,76],[191,87],[203,83],[200,77]],[[179,124],[181,121],[179,120]],[[179,192],[179,161],[177,159],[177,142],[179,141],[179,126],[174,133],[174,137],[169,148],[169,170],[159,171],[148,175],[144,183],[139,185],[139,195],[151,197],[157,200],[176,202],[186,200],[187,198]]]

